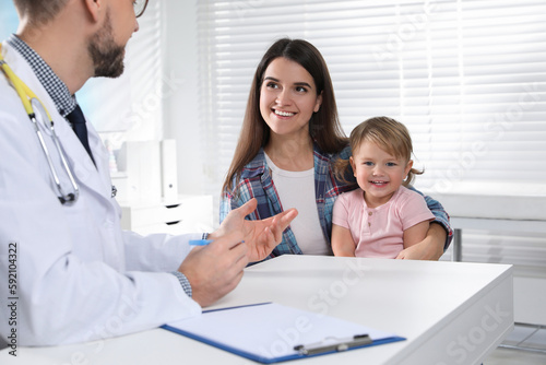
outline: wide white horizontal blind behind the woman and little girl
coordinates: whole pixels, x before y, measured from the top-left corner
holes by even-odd
[[[410,128],[420,188],[511,181],[546,193],[544,0],[200,0],[199,32],[213,195],[256,66],[283,36],[324,56],[347,133],[377,115]]]

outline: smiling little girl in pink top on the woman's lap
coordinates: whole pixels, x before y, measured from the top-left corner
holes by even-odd
[[[414,175],[412,139],[406,127],[376,117],[351,132],[352,156],[340,161],[343,178],[353,167],[358,189],[334,203],[332,249],[335,256],[396,258],[425,239],[432,213],[425,199],[406,188]]]

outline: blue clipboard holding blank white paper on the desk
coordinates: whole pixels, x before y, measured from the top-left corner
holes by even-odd
[[[206,310],[198,318],[162,328],[262,364],[405,340],[393,333],[276,303]]]

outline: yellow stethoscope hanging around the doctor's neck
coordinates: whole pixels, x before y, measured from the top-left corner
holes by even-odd
[[[80,188],[75,182],[72,169],[67,163],[67,156],[64,152],[62,152],[61,145],[59,143],[59,138],[57,137],[57,133],[55,131],[54,120],[49,115],[49,113],[47,111],[44,104],[38,99],[36,94],[34,94],[34,92],[11,70],[8,63],[5,63],[1,52],[2,50],[1,47],[2,45],[0,45],[0,67],[2,68],[2,71],[5,73],[7,78],[11,81],[13,87],[17,92],[19,97],[23,102],[26,114],[28,115],[28,118],[31,119],[34,126],[34,130],[36,131],[36,136],[38,137],[41,150],[46,155],[46,160],[49,165],[49,170],[51,172],[51,176],[57,187],[57,192],[58,192],[57,196],[61,204],[71,205],[78,200],[78,197],[80,196]],[[51,155],[44,140],[44,134],[41,133],[38,127],[37,116],[43,120],[43,125],[46,126],[46,128],[49,128],[51,132],[51,140],[54,141],[57,152],[59,153],[62,166],[64,168],[64,173],[70,179],[71,188],[68,191],[64,191],[64,189],[61,186],[59,175],[57,174],[57,170],[54,166],[54,162],[51,160]],[[46,120],[48,120],[49,122],[46,122]]]

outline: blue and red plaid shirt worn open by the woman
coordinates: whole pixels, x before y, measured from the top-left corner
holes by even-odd
[[[348,158],[351,156],[351,149],[347,146],[339,154],[324,154],[314,144],[313,150],[317,209],[319,211],[322,234],[327,237],[327,242],[330,243],[332,233],[332,209],[335,199],[342,192],[349,191],[356,187],[354,184],[342,182],[334,178],[333,163],[337,157]],[[224,191],[222,195],[219,222],[224,221],[230,210],[239,208],[252,198],[258,200],[258,207],[254,212],[247,216],[247,220],[263,220],[283,212],[281,199],[271,177],[270,168],[265,162],[263,149],[244,167],[240,180],[234,182],[236,182],[235,195],[227,191]],[[428,208],[436,216],[435,222],[440,223],[448,232],[448,238],[444,245],[446,250],[453,236],[453,232],[449,224],[449,215],[438,201],[430,197],[425,197],[425,200]],[[302,254],[289,226],[283,232],[283,240],[275,247],[270,257],[285,254]]]

